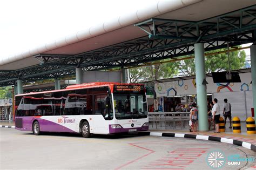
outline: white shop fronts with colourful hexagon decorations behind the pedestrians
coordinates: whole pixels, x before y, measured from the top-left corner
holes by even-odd
[[[232,116],[239,117],[242,121],[251,117],[253,107],[251,72],[240,73],[241,83],[213,83],[212,77],[206,77],[207,100],[218,99],[220,112],[223,112],[224,99],[232,106]],[[174,81],[154,84],[157,101],[148,98],[149,106],[158,104],[157,112],[186,112],[190,111],[191,105],[197,103],[196,78],[186,77]],[[150,108],[150,107],[149,107]],[[156,106],[154,106],[156,108]],[[159,109],[160,108],[160,109]],[[152,111],[152,110],[150,110]]]

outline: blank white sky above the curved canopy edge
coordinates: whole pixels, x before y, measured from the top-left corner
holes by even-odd
[[[0,57],[53,42],[156,1],[0,1]]]

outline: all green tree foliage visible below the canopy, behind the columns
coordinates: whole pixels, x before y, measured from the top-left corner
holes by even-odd
[[[205,57],[206,73],[227,71],[229,69],[227,53],[218,53],[225,50],[227,49],[219,49],[206,52],[216,53],[214,55]],[[181,58],[184,57],[189,56],[183,56]],[[245,65],[245,58],[246,54],[244,50],[230,52],[231,70],[241,69]],[[160,62],[164,61],[166,60],[161,60]],[[156,63],[159,63],[159,61]],[[188,74],[189,76],[194,75],[196,73],[196,65],[194,63],[194,59],[186,59],[178,62],[154,64],[145,67],[129,69],[129,78],[131,83],[166,79],[176,76],[179,70],[183,71],[184,74]]]

